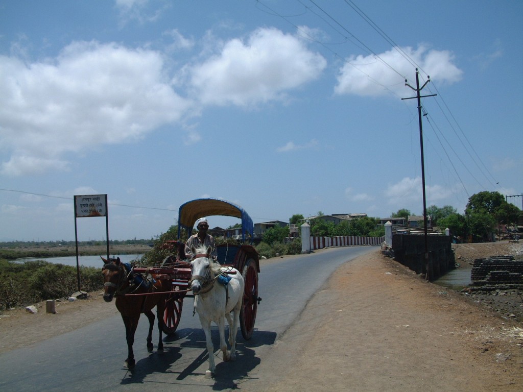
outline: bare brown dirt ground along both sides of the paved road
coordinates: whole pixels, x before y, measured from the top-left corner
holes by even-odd
[[[522,248],[460,244],[455,251],[464,263]],[[44,304],[37,314],[6,312],[0,316],[0,352],[116,314],[99,294],[58,303],[54,315],[45,313]],[[271,348],[253,379],[238,386],[253,392],[519,392],[523,325],[501,316],[469,295],[420,279],[377,249],[338,269]]]

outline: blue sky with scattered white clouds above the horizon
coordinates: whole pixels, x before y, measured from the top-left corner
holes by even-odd
[[[427,206],[521,194],[522,26],[520,1],[0,1],[0,240],[74,239],[83,194],[110,239],[202,197],[422,214],[416,67]]]

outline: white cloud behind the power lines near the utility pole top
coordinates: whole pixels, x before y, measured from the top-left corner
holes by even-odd
[[[410,47],[400,50],[440,84],[454,83],[461,79],[462,71],[452,64],[453,56],[449,51],[429,50],[424,45],[420,45],[417,50]],[[413,80],[413,65],[395,49],[378,56],[379,58],[374,55],[348,57],[339,70],[335,93],[380,96],[392,91],[396,95],[406,95],[408,89],[405,87],[405,78]]]

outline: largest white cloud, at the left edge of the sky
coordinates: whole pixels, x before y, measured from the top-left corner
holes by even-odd
[[[115,43],[75,42],[56,59],[0,56],[0,145],[8,175],[65,170],[63,155],[137,140],[190,103],[164,81],[163,59]]]

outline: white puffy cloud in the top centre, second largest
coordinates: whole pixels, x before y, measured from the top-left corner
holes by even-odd
[[[325,59],[304,41],[277,29],[257,29],[247,42],[232,39],[221,53],[195,66],[194,93],[206,105],[248,106],[285,97],[319,77]]]

